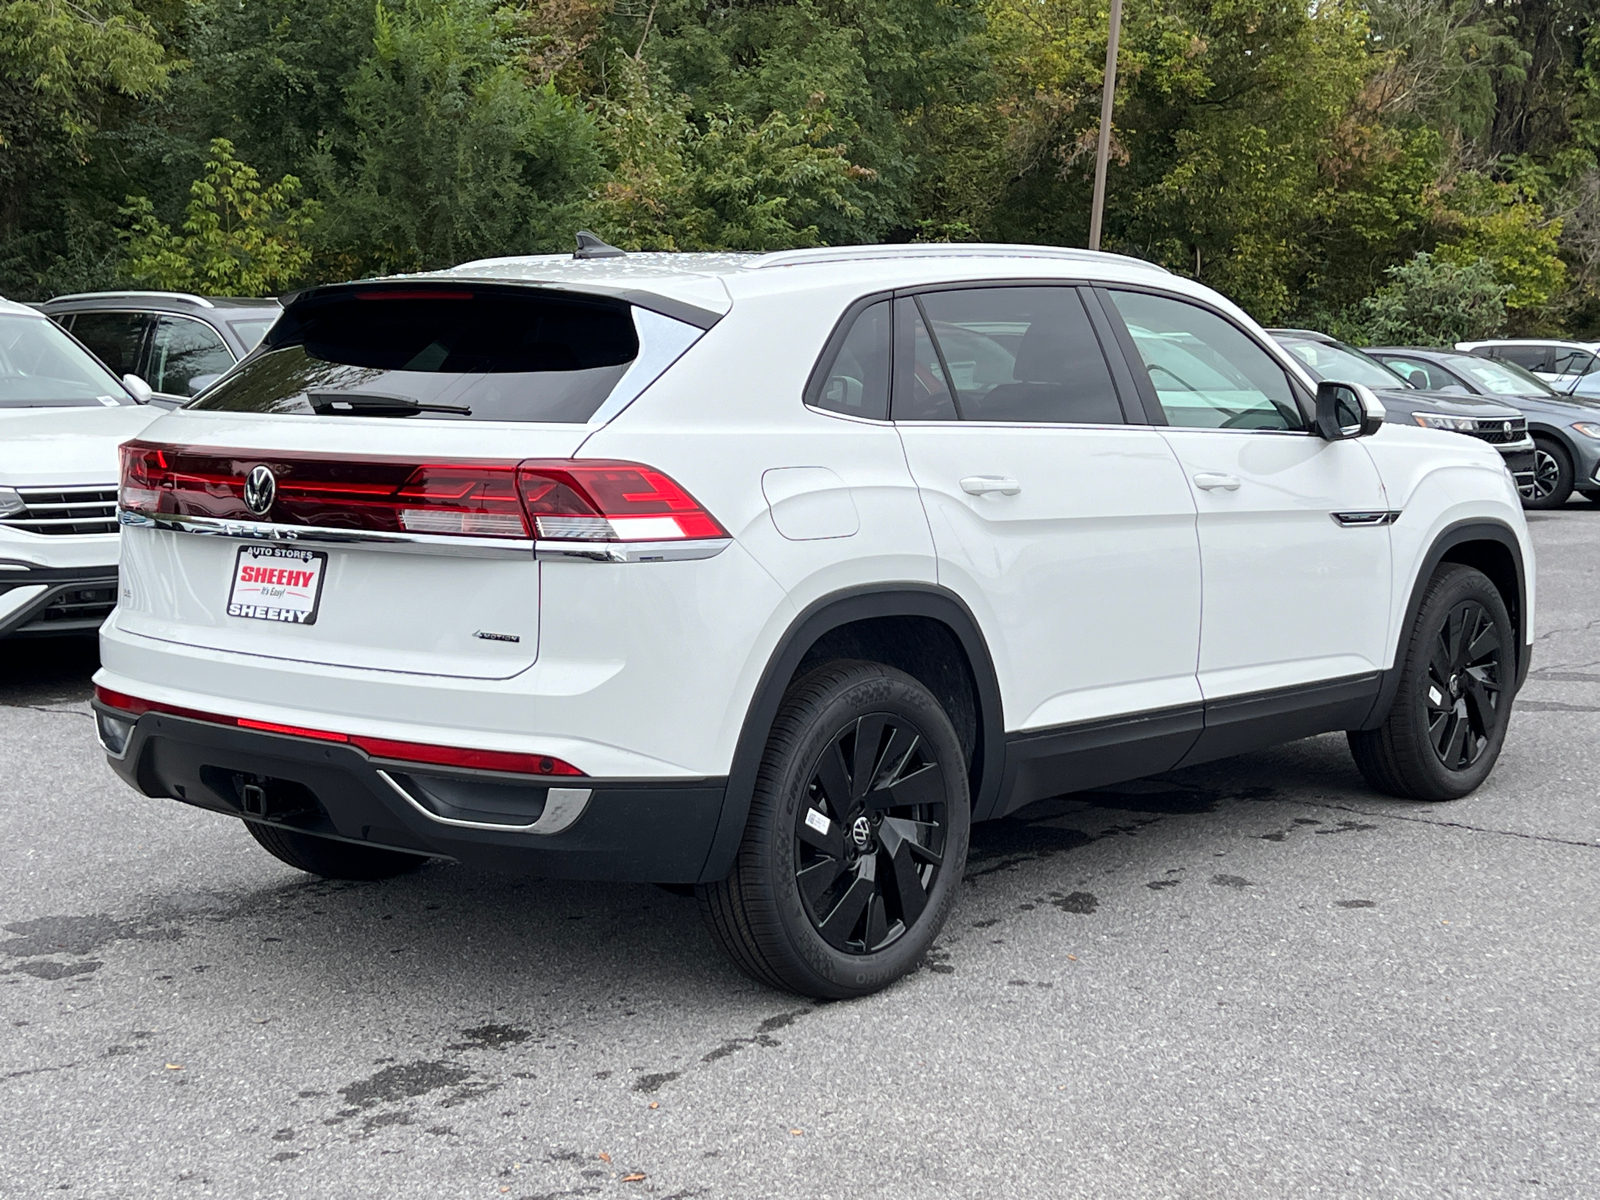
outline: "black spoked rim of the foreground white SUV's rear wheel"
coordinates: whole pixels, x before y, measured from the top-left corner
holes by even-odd
[[[795,882],[830,946],[869,954],[917,923],[944,861],[944,768],[896,717],[829,742],[795,826]]]

